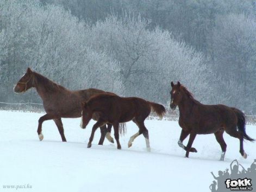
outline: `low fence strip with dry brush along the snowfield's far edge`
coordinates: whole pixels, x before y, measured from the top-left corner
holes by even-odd
[[[24,107],[24,105],[26,107]],[[168,107],[165,107],[168,108]],[[0,110],[4,111],[22,111],[22,112],[33,112],[33,113],[45,113],[43,105],[40,103],[6,103],[0,101]],[[156,114],[151,113],[151,115],[147,119],[157,119]],[[164,120],[172,120],[178,121],[179,120],[179,113],[178,111],[167,110],[165,116],[163,117]],[[256,125],[256,116],[254,115],[246,115],[246,124],[247,125]]]

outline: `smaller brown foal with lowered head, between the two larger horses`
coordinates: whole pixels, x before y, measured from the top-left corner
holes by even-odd
[[[99,126],[110,123],[114,127],[117,149],[121,149],[118,130],[122,126],[119,127],[119,124],[133,120],[133,122],[139,127],[139,132],[130,137],[128,147],[132,146],[134,139],[142,133],[146,139],[147,150],[150,151],[148,130],[144,125],[144,121],[151,111],[157,113],[159,117],[163,117],[165,113],[165,107],[163,105],[152,103],[141,98],[124,98],[106,93],[95,95],[86,103],[82,103],[82,105],[83,111],[80,124],[82,128],[85,129],[86,125],[88,125],[93,113],[99,114],[97,123],[92,127],[88,148],[91,147],[91,142],[96,129]]]

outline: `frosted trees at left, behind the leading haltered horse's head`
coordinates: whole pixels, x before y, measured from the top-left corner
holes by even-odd
[[[118,91],[120,71],[112,57],[85,43],[85,23],[55,5],[39,1],[1,3],[1,100],[30,100],[35,93],[16,97],[13,85],[28,66],[70,89]]]

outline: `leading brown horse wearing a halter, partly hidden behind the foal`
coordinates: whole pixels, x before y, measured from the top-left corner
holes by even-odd
[[[24,93],[31,87],[35,87],[36,91],[43,100],[43,107],[46,114],[39,118],[38,123],[38,136],[39,139],[43,139],[42,135],[42,123],[45,120],[53,119],[58,127],[61,139],[66,142],[64,135],[63,123],[61,118],[78,118],[81,117],[82,106],[81,102],[88,100],[92,95],[104,93],[99,89],[84,89],[79,91],[70,91],[63,86],[56,84],[55,82],[47,79],[39,73],[33,72],[30,68],[27,69],[26,74],[17,82],[14,87],[14,92]],[[114,93],[113,93],[114,94]],[[98,117],[93,117],[95,120]],[[105,136],[110,142],[114,143],[114,139],[110,136],[111,126],[101,126],[101,139],[99,139],[99,145],[104,142]]]

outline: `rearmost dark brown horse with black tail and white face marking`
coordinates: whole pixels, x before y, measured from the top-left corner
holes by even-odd
[[[230,136],[240,140],[240,153],[247,158],[243,150],[243,139],[254,139],[246,134],[245,114],[242,111],[225,105],[203,105],[195,100],[179,81],[177,85],[171,82],[171,86],[170,107],[172,110],[175,110],[176,106],[179,107],[179,126],[182,127],[178,145],[186,151],[186,157],[189,157],[189,152],[197,152],[195,148],[191,148],[197,134],[214,133],[222,149],[220,160],[224,161],[227,144],[223,139],[223,133],[226,131]],[[184,146],[182,142],[188,135],[189,143]]]

